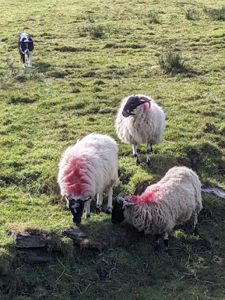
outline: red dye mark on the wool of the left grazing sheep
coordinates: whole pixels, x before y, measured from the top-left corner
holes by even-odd
[[[86,189],[86,174],[84,173],[84,165],[82,162],[73,159],[65,172],[65,185],[68,188],[68,194],[79,196]]]

